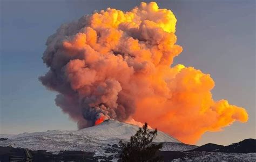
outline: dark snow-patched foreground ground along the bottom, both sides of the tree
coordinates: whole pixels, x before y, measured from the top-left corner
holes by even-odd
[[[99,156],[92,152],[61,151],[58,154],[42,150],[30,151],[33,161],[118,161],[118,154]],[[181,152],[159,151],[164,161],[256,161],[256,153],[223,153],[223,152]],[[10,156],[26,158],[24,149],[0,146],[0,161],[9,161]]]

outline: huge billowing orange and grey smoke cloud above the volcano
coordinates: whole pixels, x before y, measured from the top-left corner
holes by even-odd
[[[109,118],[148,122],[194,143],[206,131],[246,122],[245,109],[212,99],[210,75],[171,68],[182,51],[176,21],[172,11],[151,2],[64,24],[46,42],[43,60],[50,70],[39,79],[59,93],[56,104],[79,129]]]

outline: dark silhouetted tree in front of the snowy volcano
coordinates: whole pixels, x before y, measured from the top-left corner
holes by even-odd
[[[152,141],[157,136],[157,129],[150,131],[147,123],[131,137],[130,142],[119,141],[122,148],[120,160],[122,161],[162,161],[161,157],[156,156],[156,152],[161,149],[163,144],[153,144]]]

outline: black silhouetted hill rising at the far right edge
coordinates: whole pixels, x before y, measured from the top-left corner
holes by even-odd
[[[256,152],[256,139],[245,139],[239,143],[234,143],[225,147],[222,147],[218,152],[240,152],[249,153]]]

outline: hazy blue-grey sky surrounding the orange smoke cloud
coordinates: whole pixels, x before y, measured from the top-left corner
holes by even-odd
[[[150,2],[150,1],[144,1]],[[177,44],[183,52],[174,64],[210,73],[215,100],[245,107],[247,123],[207,132],[197,145],[228,145],[256,138],[255,1],[155,1],[178,19]],[[130,10],[140,1],[6,1],[2,0],[0,42],[0,133],[76,130],[76,123],[55,105],[55,92],[38,77],[48,69],[42,55],[46,39],[63,23],[93,10]]]

